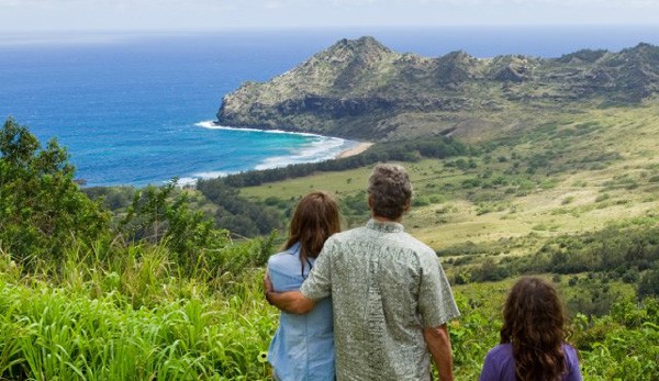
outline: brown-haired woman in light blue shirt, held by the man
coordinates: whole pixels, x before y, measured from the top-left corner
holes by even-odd
[[[293,213],[283,251],[268,260],[275,291],[300,289],[325,240],[339,231],[338,205],[333,198],[324,192],[304,197]],[[305,315],[281,312],[268,361],[276,380],[334,380],[332,300],[320,301]]]

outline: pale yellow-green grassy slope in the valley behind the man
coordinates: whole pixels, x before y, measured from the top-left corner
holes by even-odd
[[[499,137],[485,154],[461,158],[467,168],[451,166],[460,158],[403,164],[416,199],[404,218],[406,228],[440,249],[465,242],[588,232],[635,216],[656,216],[657,115],[659,104],[559,115]],[[544,163],[532,172],[529,164],[538,159]],[[360,168],[319,173],[245,188],[242,194],[295,200],[325,190],[339,199],[360,197],[369,172]]]

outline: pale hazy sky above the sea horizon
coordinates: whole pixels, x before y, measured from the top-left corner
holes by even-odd
[[[659,0],[0,0],[0,32],[658,25]]]

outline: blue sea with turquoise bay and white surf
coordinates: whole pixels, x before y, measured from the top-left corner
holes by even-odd
[[[659,27],[438,27],[0,36],[0,117],[68,148],[88,186],[163,183],[334,157],[355,142],[217,128],[224,94],[265,81],[339,38],[399,52],[558,57],[659,44]],[[231,127],[231,126],[227,126]]]

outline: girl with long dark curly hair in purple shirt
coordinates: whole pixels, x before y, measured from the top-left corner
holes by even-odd
[[[501,344],[485,357],[480,381],[578,381],[577,351],[566,344],[562,305],[554,287],[525,277],[503,309]]]

